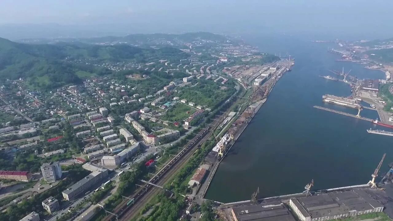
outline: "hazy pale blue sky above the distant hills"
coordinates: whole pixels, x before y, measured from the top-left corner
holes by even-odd
[[[392,8],[390,0],[1,0],[0,36],[261,31],[388,38]]]

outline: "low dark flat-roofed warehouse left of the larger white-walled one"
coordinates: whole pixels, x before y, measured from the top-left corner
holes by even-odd
[[[296,221],[283,203],[237,206],[231,212],[235,221]]]

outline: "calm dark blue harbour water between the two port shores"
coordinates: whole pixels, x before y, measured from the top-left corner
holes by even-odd
[[[259,197],[298,193],[314,179],[315,189],[365,184],[383,153],[381,171],[393,161],[393,137],[369,134],[378,128],[371,122],[313,108],[314,105],[347,109],[321,101],[323,94],[349,96],[345,83],[318,77],[327,69],[344,66],[359,78],[384,79],[384,73],[360,64],[337,62],[325,43],[301,41],[286,36],[252,36],[244,39],[260,50],[295,57],[292,72],[276,84],[266,103],[221,162],[206,193],[207,199],[232,202],[250,199],[259,187]],[[335,46],[338,47],[338,46]],[[374,110],[362,116],[377,118]],[[388,130],[388,129],[385,129]]]

